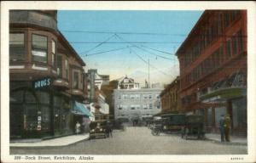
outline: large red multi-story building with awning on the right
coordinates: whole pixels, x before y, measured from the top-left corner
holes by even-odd
[[[183,109],[215,131],[229,114],[231,131],[246,134],[247,11],[206,10],[176,54]]]

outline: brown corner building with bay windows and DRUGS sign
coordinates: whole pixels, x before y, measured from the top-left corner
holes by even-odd
[[[84,61],[52,10],[9,12],[11,138],[70,134],[83,115]]]

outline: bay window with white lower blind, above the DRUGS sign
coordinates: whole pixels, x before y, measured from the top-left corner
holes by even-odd
[[[32,34],[32,60],[47,63],[47,37]]]

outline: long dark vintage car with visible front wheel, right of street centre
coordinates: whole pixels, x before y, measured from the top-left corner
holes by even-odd
[[[161,115],[160,119],[153,121],[151,127],[151,133],[156,136],[160,135],[160,132],[172,133],[181,132],[185,125],[185,115],[183,114],[166,114]]]

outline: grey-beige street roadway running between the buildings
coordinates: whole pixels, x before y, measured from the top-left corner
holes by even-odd
[[[10,148],[10,155],[245,155],[246,145],[185,140],[178,134],[153,136],[147,127],[114,130],[113,138],[97,138],[53,148]]]

